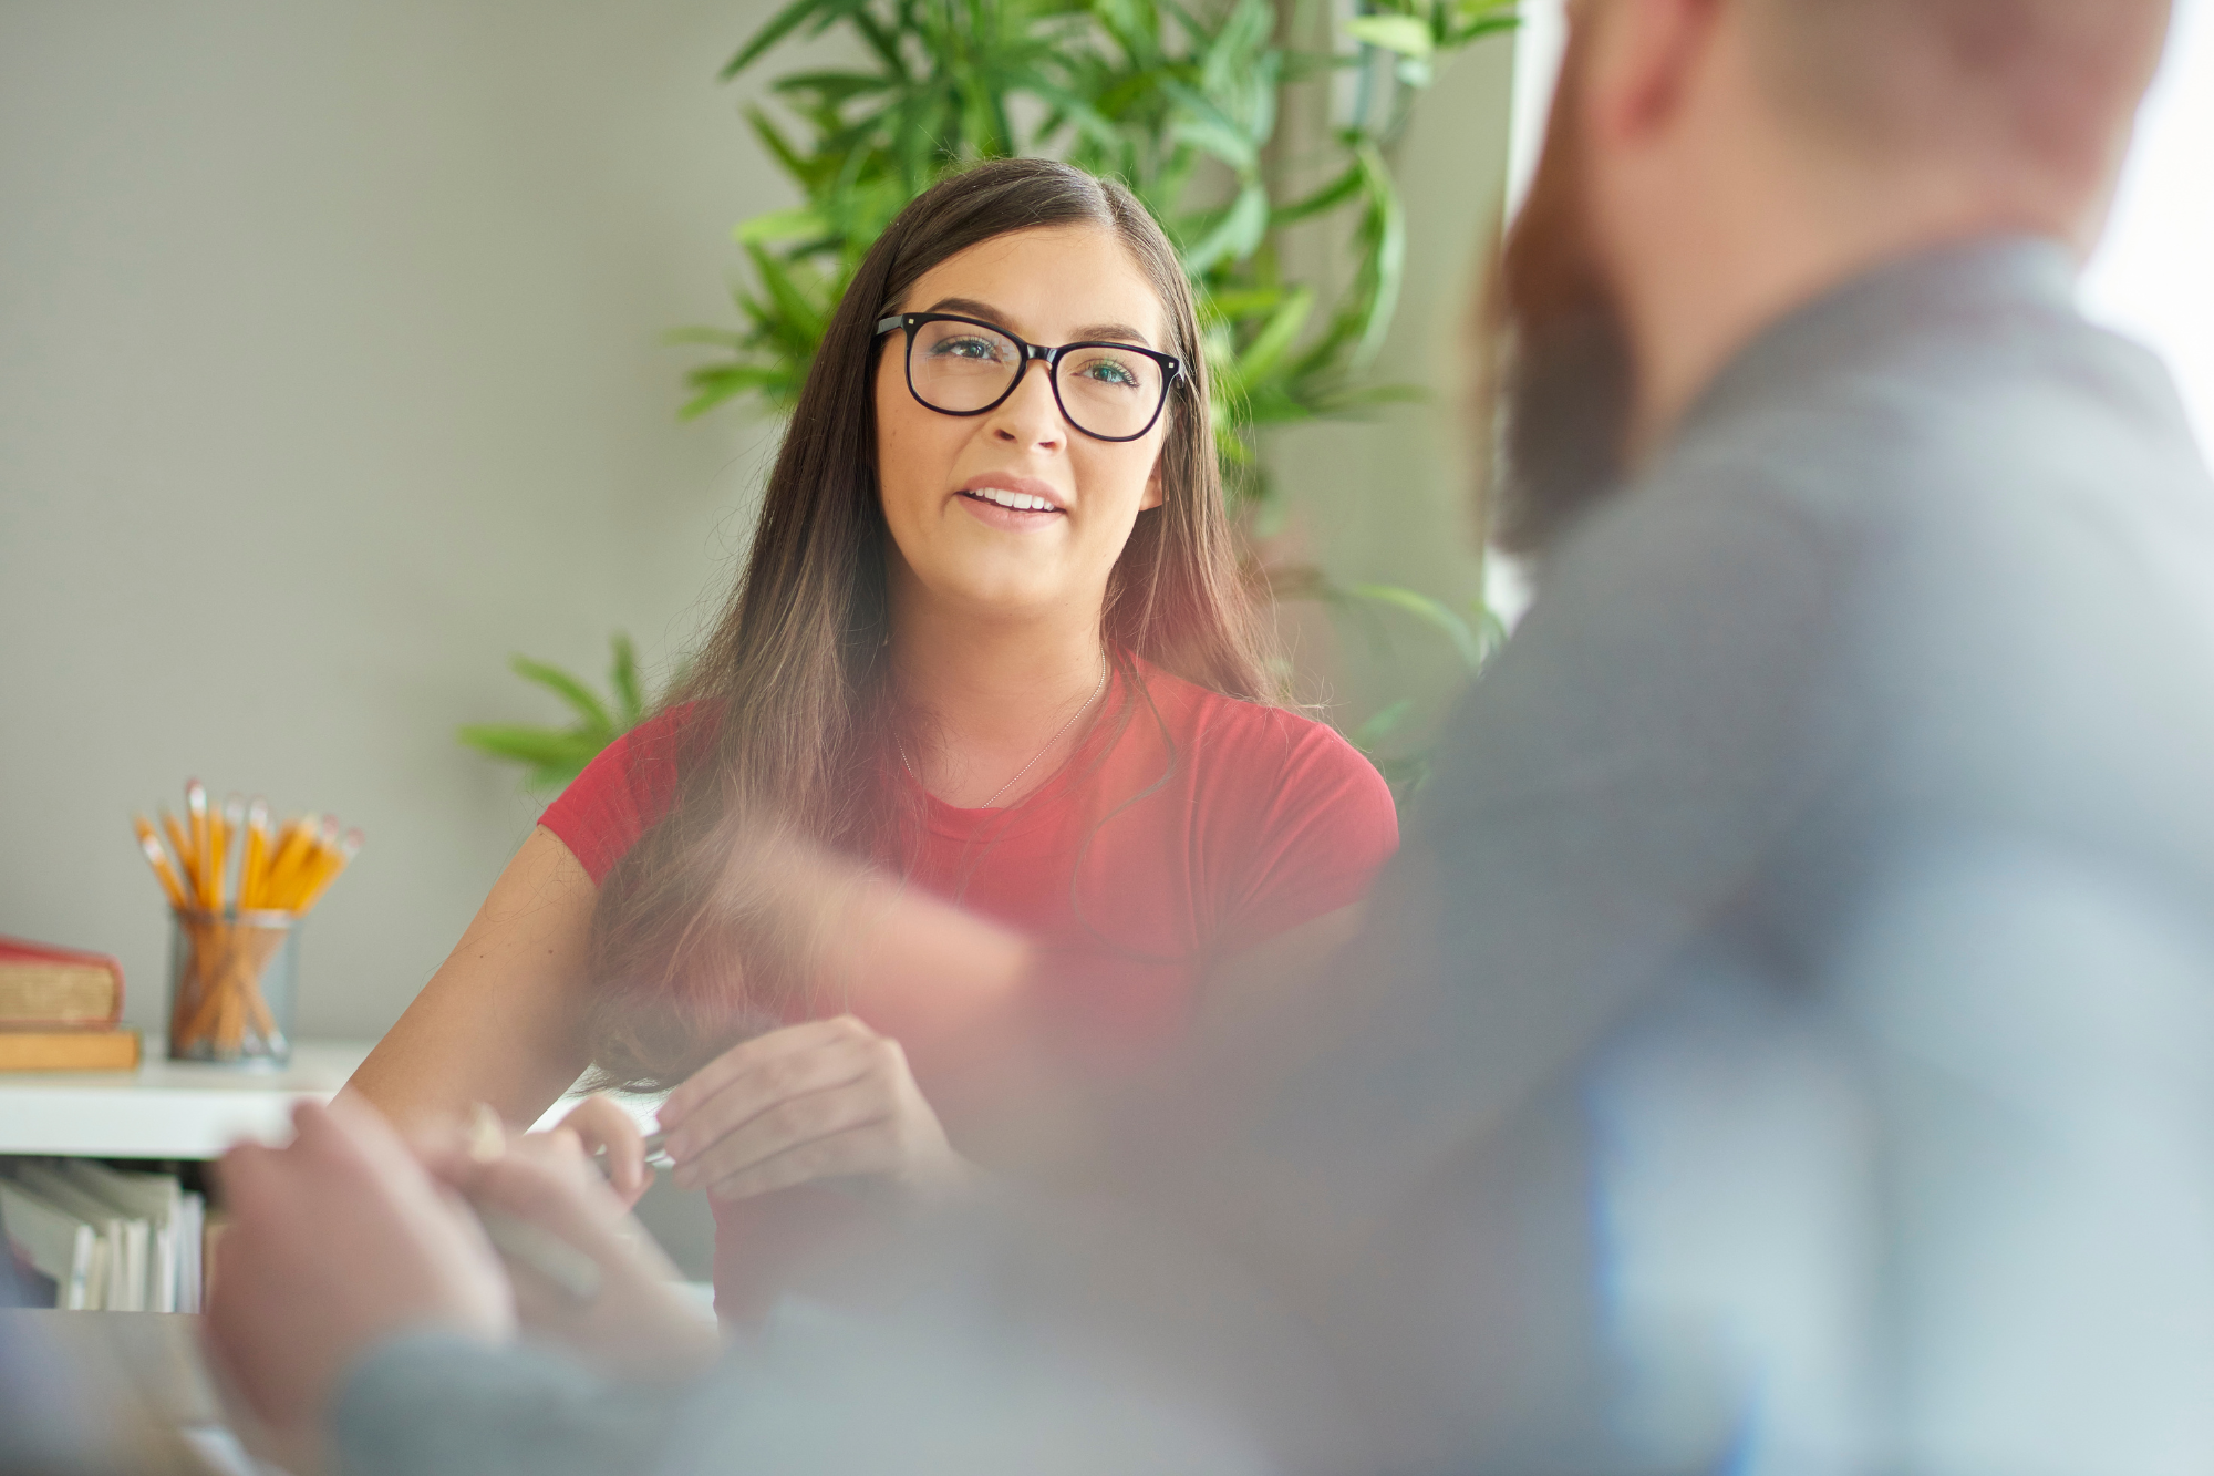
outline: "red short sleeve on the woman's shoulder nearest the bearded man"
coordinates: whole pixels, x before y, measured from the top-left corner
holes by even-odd
[[[1218,782],[1244,802],[1251,849],[1231,873],[1215,953],[1229,955],[1302,922],[1353,906],[1399,849],[1390,785],[1359,749],[1322,722],[1271,711],[1269,758]],[[1266,754],[1269,747],[1277,754]],[[1240,745],[1244,747],[1244,745]]]

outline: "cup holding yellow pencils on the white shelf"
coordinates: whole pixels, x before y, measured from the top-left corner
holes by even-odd
[[[292,1059],[297,982],[292,913],[175,913],[168,1059],[283,1066]]]

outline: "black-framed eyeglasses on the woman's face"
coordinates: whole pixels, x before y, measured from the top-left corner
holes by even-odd
[[[1063,419],[1094,441],[1136,441],[1169,403],[1184,370],[1176,355],[1136,344],[1025,344],[1005,328],[954,312],[899,312],[877,321],[877,337],[908,332],[908,392],[939,414],[996,410],[1032,359],[1045,363]]]

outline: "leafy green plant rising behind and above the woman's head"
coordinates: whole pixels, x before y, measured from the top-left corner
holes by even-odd
[[[1302,18],[1273,0],[790,0],[724,78],[828,31],[859,60],[770,84],[797,135],[748,109],[804,204],[737,226],[753,268],[733,293],[742,326],[675,335],[720,350],[691,372],[684,414],[735,397],[788,408],[901,206],[974,160],[1056,155],[1122,177],[1178,244],[1207,315],[1224,472],[1266,512],[1260,430],[1406,397],[1368,381],[1406,268],[1386,151],[1435,58],[1512,24],[1512,0],[1384,0],[1344,24],[1355,49],[1339,53],[1284,40]],[[1346,69],[1353,98],[1326,137],[1277,140],[1284,89]],[[1286,275],[1284,246],[1331,224],[1351,270],[1324,293]]]

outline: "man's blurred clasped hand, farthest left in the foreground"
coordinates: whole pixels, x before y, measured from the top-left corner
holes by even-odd
[[[206,1316],[210,1356],[279,1438],[312,1432],[348,1365],[387,1336],[500,1341],[516,1325],[476,1217],[374,1108],[303,1101],[292,1124],[286,1148],[224,1155],[230,1228]]]

